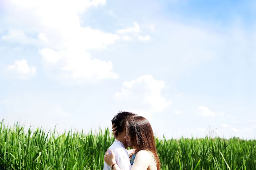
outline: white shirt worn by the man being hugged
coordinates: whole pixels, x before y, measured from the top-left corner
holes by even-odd
[[[109,153],[111,154],[110,150],[113,150],[115,154],[115,161],[121,170],[131,170],[129,154],[123,143],[115,140],[109,147]],[[110,166],[106,164],[106,162],[104,162],[103,170],[111,170]]]

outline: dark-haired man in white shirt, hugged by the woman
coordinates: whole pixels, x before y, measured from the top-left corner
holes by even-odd
[[[111,120],[112,125],[115,124],[117,131],[114,136],[116,140],[109,147],[109,151],[113,150],[116,156],[116,163],[120,167],[121,170],[131,170],[130,158],[127,152],[127,143],[125,141],[125,123],[127,118],[130,116],[136,116],[132,112],[118,112],[113,119]],[[110,153],[111,154],[111,153]],[[111,167],[104,162],[103,170],[111,170]]]

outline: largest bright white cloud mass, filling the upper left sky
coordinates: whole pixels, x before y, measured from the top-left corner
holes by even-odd
[[[5,4],[9,9],[9,20],[16,23],[19,29],[9,30],[9,34],[2,39],[38,46],[46,73],[60,80],[80,79],[79,82],[84,82],[117,78],[117,74],[112,72],[112,62],[91,59],[87,50],[106,49],[119,36],[91,27],[82,27],[79,18],[79,14],[89,7],[100,4],[106,4],[106,0],[42,3],[30,0],[22,3],[10,1]],[[24,23],[16,19],[20,17],[24,18]]]

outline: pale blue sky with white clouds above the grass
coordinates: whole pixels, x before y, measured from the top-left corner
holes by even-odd
[[[59,132],[118,111],[157,137],[256,136],[254,1],[0,1],[0,118]]]

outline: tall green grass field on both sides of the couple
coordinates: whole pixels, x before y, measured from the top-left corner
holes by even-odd
[[[72,131],[24,131],[1,121],[0,169],[103,169],[104,153],[115,139],[108,129],[84,134]],[[156,138],[162,170],[255,170],[256,140]]]

